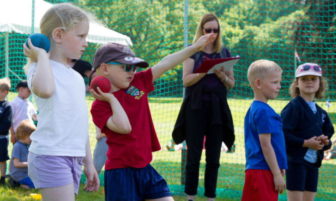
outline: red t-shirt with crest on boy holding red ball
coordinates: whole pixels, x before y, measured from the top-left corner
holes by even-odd
[[[107,137],[105,169],[143,168],[152,161],[152,152],[161,150],[147,98],[147,94],[154,90],[152,79],[151,69],[138,72],[127,89],[113,92],[132,127],[128,134],[120,134],[107,128],[105,124],[112,115],[110,104],[101,100],[93,101],[93,122]]]

